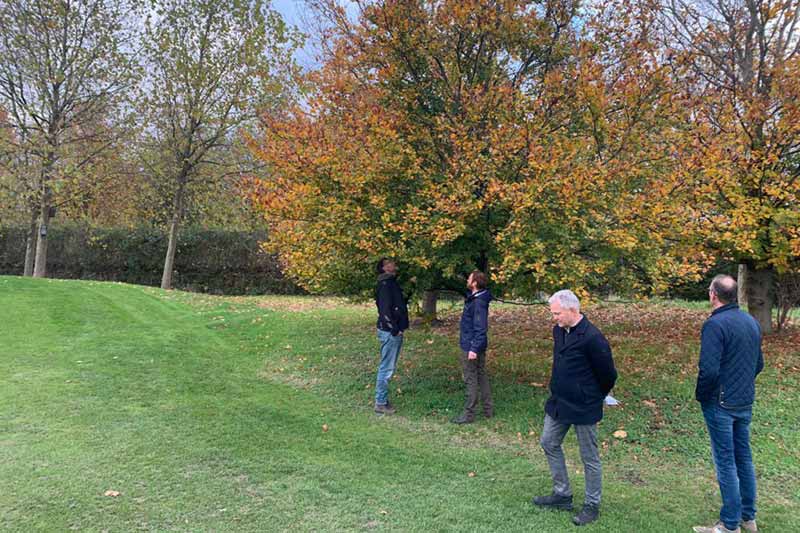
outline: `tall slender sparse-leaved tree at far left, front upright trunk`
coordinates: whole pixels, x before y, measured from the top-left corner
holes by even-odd
[[[36,277],[47,273],[47,230],[64,177],[113,144],[111,129],[94,126],[120,115],[136,76],[134,31],[125,24],[131,10],[128,0],[7,0],[0,6],[5,126],[19,143],[16,160],[35,157],[40,169],[33,196]],[[29,235],[29,246],[33,241]]]

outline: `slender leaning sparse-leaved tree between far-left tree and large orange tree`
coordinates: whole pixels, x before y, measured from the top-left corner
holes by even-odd
[[[154,0],[144,35],[142,161],[171,195],[169,289],[191,188],[238,170],[232,145],[286,97],[297,35],[263,0]]]

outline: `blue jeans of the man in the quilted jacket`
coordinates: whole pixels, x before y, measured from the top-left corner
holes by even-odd
[[[736,529],[740,521],[756,518],[756,471],[750,453],[753,409],[725,409],[716,402],[702,408],[722,495],[719,519],[728,529]]]

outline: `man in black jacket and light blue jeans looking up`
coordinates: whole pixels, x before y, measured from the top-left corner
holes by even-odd
[[[403,346],[403,331],[408,329],[408,308],[403,291],[397,283],[397,265],[388,258],[378,261],[378,286],[375,305],[378,308],[378,340],[381,343],[381,362],[375,383],[375,412],[393,414],[389,403],[389,379],[397,367]]]

